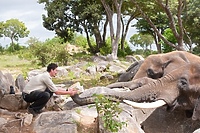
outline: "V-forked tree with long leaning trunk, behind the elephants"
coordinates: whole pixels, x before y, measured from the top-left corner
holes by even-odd
[[[172,42],[168,41],[162,33],[159,32],[156,25],[154,25],[153,21],[150,19],[148,14],[145,12],[145,10],[142,9],[142,6],[137,3],[136,0],[132,0],[132,2],[137,6],[137,8],[140,10],[140,13],[142,14],[143,18],[148,22],[148,24],[153,28],[155,34],[157,34],[163,42],[165,42],[167,45],[170,45],[171,47],[177,49],[177,50],[185,50],[184,49],[184,26],[182,22],[182,13],[183,9],[185,7],[185,1],[184,0],[177,0],[177,1],[169,1],[169,0],[153,0],[150,1],[151,3],[154,3],[158,5],[163,12],[166,14],[166,17],[169,21],[169,28],[172,30],[172,33],[174,37],[177,40],[177,44],[173,44]]]

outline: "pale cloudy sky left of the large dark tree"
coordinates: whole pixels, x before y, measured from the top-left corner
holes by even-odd
[[[30,37],[36,37],[40,41],[53,38],[55,32],[45,29],[42,25],[42,14],[46,14],[44,5],[37,3],[37,0],[1,0],[0,21],[18,19],[23,22],[30,34],[26,38],[19,38],[20,45],[26,45]],[[0,45],[6,46],[11,40],[7,37],[0,38]]]

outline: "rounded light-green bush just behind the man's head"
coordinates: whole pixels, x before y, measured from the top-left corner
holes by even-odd
[[[50,62],[67,65],[69,53],[65,49],[66,45],[63,44],[63,39],[59,37],[48,39],[44,43],[33,41],[29,45],[29,52],[35,58],[33,61],[43,67]]]

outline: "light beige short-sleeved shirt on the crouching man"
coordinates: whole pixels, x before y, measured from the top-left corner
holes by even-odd
[[[48,72],[32,77],[25,85],[23,92],[30,94],[35,90],[45,91],[46,88],[48,88],[51,92],[56,92],[58,90]]]

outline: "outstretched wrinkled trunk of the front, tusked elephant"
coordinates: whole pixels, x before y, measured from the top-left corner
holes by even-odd
[[[162,99],[166,103],[170,104],[179,94],[175,84],[176,83],[174,83],[173,81],[170,82],[168,79],[164,78],[163,81],[155,80],[132,91],[116,91],[110,88],[104,88],[104,93],[96,92],[92,89],[88,89],[85,91],[91,91],[92,94],[103,94],[109,97],[112,101],[130,100],[135,102],[153,102]],[[79,105],[95,103],[95,97],[93,97],[92,95],[85,97],[74,95],[72,96],[72,99],[75,103]]]

